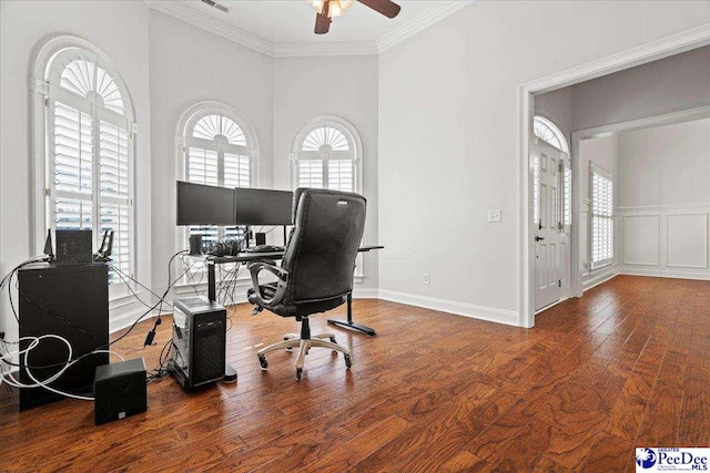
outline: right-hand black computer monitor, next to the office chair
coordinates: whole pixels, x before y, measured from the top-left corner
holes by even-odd
[[[235,188],[236,225],[291,225],[293,193]]]

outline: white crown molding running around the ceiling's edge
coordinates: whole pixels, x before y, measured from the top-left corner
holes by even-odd
[[[197,28],[225,38],[271,58],[305,58],[328,55],[379,54],[469,6],[474,0],[445,0],[376,41],[332,41],[323,43],[274,44],[226,21],[219,20],[199,8],[179,0],[143,0],[153,10],[170,14]]]

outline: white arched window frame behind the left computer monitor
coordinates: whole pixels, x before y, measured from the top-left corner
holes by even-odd
[[[201,119],[209,115],[221,115],[232,120],[242,131],[245,140],[245,144],[230,144],[220,140],[205,140],[202,137],[193,136],[195,125]],[[237,153],[241,156],[247,156],[250,158],[250,187],[256,187],[258,172],[258,143],[256,141],[256,133],[248,123],[246,117],[240,113],[233,106],[217,101],[200,102],[183,112],[178,121],[178,127],[175,132],[175,177],[179,181],[187,181],[187,169],[190,161],[190,148],[209,150],[217,153],[217,182],[216,185],[224,184],[224,154]],[[178,247],[182,248],[186,245],[187,237],[190,235],[191,227],[180,228],[178,232]],[[225,227],[217,227],[216,238],[223,238],[227,235]]]

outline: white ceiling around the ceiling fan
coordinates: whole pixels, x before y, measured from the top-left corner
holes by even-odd
[[[315,11],[306,0],[144,0],[151,8],[268,55],[376,54],[429,27],[471,0],[395,0],[402,11],[388,19],[355,2],[334,18],[327,34],[315,34]]]

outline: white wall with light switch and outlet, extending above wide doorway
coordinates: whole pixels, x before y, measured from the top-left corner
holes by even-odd
[[[518,86],[708,21],[708,1],[474,2],[383,53],[382,297],[518,322]]]

